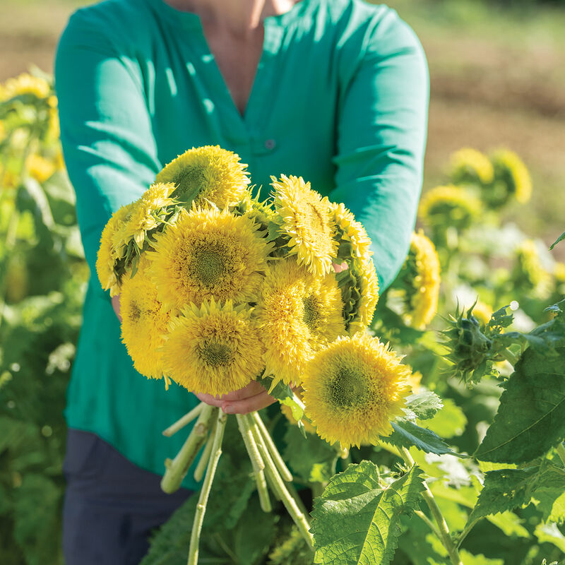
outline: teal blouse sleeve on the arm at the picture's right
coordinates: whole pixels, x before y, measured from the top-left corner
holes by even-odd
[[[338,117],[336,188],[372,240],[386,288],[408,253],[422,187],[427,132],[427,64],[412,30],[389,11],[364,40]]]

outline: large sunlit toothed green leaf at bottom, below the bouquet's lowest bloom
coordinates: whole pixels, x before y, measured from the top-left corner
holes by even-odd
[[[422,490],[416,465],[386,489],[370,461],[335,475],[314,501],[314,563],[387,565],[398,545],[400,515],[415,509]]]

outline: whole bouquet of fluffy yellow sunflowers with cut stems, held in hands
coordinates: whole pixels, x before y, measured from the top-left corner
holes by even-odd
[[[120,295],[122,339],[141,374],[214,396],[258,380],[338,449],[375,444],[403,410],[411,371],[366,331],[379,298],[369,237],[302,178],[271,178],[270,197],[259,201],[237,155],[186,151],[107,223],[100,283]],[[270,487],[311,545],[292,474],[261,417],[236,417],[261,507],[270,510]],[[203,448],[189,563],[198,559],[226,415],[201,403],[165,434],[195,419],[162,480],[166,492],[179,488]]]

